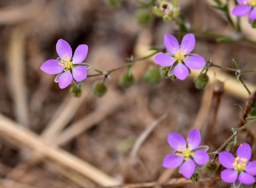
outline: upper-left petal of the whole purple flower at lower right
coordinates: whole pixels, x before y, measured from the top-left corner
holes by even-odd
[[[170,146],[175,150],[184,150],[186,149],[186,141],[184,137],[179,133],[169,133],[167,137],[167,141]]]

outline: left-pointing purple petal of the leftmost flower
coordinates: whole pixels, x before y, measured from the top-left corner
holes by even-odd
[[[60,73],[65,67],[59,65],[59,61],[55,59],[50,59],[42,64],[40,69],[48,74],[58,74]]]

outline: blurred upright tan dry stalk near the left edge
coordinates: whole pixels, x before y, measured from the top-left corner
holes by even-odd
[[[19,25],[13,28],[10,36],[8,53],[8,74],[10,90],[15,103],[15,115],[17,121],[23,125],[29,125],[28,106],[25,88],[25,28]]]

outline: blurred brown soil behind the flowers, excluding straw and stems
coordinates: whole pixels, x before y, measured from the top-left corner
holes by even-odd
[[[0,8],[12,8],[26,5],[28,0],[0,0]],[[200,6],[197,6],[200,4]],[[11,95],[7,71],[7,54],[10,33],[17,24],[26,29],[24,64],[26,101],[29,111],[29,127],[40,134],[49,123],[64,98],[69,95],[69,88],[61,90],[54,83],[54,76],[40,70],[42,63],[55,59],[56,42],[59,38],[66,40],[74,51],[79,44],[89,46],[85,62],[92,68],[88,74],[94,74],[93,69],[108,70],[126,62],[131,54],[136,54],[134,47],[137,39],[145,30],[150,31],[153,39],[151,45],[162,46],[164,33],[177,33],[176,27],[161,19],[156,19],[148,27],[136,23],[136,1],[126,0],[118,8],[108,7],[103,0],[56,0],[45,1],[42,10],[32,18],[9,25],[0,26],[0,112],[16,120],[14,100]],[[197,30],[209,30],[217,33],[231,34],[230,25],[202,0],[184,1],[181,10]],[[1,10],[0,10],[1,12]],[[29,12],[24,12],[29,14]],[[241,68],[251,68],[255,61],[255,48],[247,44],[217,44],[212,38],[196,36],[194,52],[206,58],[213,58],[216,64],[231,66],[235,58]],[[155,86],[147,85],[142,80],[142,74],[136,75],[136,84],[125,90],[118,86],[119,76],[124,70],[117,71],[106,81],[109,93],[97,98],[90,93],[79,110],[71,118],[68,125],[77,122],[90,112],[93,112],[104,101],[108,101],[113,92],[129,96],[123,99],[121,107],[108,114],[104,120],[94,124],[89,130],[63,148],[110,176],[125,183],[157,181],[164,172],[162,160],[172,152],[166,138],[169,132],[177,131],[187,136],[192,128],[200,108],[203,90],[194,87],[192,79],[171,81],[169,79]],[[253,75],[245,75],[245,80],[255,83]],[[87,78],[83,83],[91,87],[95,80]],[[216,78],[217,80],[217,78]],[[239,83],[238,83],[239,84]],[[91,90],[91,89],[90,89]],[[130,95],[129,95],[130,92]],[[209,98],[211,100],[211,98]],[[209,151],[217,149],[230,135],[230,128],[239,122],[239,106],[244,101],[224,94],[217,116],[216,126],[207,140]],[[161,122],[142,144],[138,152],[138,164],[131,166],[129,156],[135,139],[161,115],[167,113],[167,118]],[[206,123],[206,122],[205,122]],[[239,135],[238,141],[245,140],[245,134]],[[0,178],[24,183],[32,187],[63,188],[76,185],[60,175],[54,168],[43,163],[33,165],[28,170],[19,169],[21,174],[13,175],[16,167],[32,160],[30,156],[22,156],[15,143],[11,143],[4,135],[0,138]],[[254,156],[255,157],[255,156]],[[178,170],[172,177],[181,177]],[[219,181],[222,185],[222,182]],[[189,185],[198,187],[200,184]],[[203,186],[201,184],[201,186]],[[216,184],[216,187],[219,185]]]

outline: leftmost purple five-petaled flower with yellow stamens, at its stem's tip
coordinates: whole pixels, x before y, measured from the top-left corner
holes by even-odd
[[[58,74],[55,78],[55,82],[59,82],[61,89],[67,87],[72,82],[73,78],[75,83],[86,78],[86,69],[90,67],[88,63],[83,62],[88,52],[87,45],[79,45],[72,57],[70,45],[65,40],[59,39],[56,44],[56,51],[59,58],[57,58],[57,60],[47,60],[40,68],[48,74]]]

